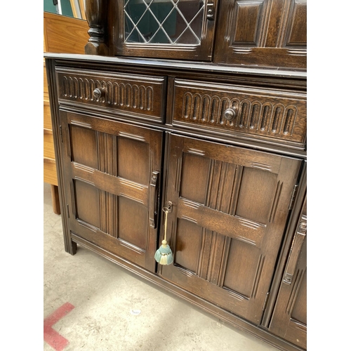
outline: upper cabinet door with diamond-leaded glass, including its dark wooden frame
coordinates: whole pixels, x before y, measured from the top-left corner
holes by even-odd
[[[112,30],[115,55],[211,60],[218,0],[124,0]]]

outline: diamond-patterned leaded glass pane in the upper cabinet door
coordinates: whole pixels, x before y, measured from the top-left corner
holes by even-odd
[[[199,45],[204,0],[124,0],[124,42]]]

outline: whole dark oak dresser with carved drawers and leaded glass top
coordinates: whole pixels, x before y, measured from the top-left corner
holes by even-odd
[[[86,17],[86,55],[46,53],[66,251],[305,350],[306,1],[89,0]]]

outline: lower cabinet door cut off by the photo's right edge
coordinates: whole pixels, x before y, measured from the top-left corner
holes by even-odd
[[[270,331],[307,348],[307,203],[291,244]]]

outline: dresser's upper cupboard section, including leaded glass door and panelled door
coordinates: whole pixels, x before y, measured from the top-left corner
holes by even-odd
[[[104,54],[306,67],[306,0],[88,1],[87,6],[91,44],[103,46]]]

